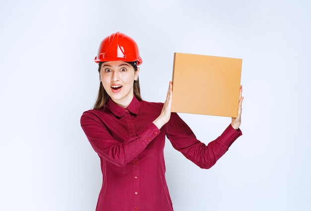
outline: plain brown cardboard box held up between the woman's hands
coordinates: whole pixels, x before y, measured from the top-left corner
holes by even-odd
[[[172,112],[236,117],[242,60],[174,54]]]

